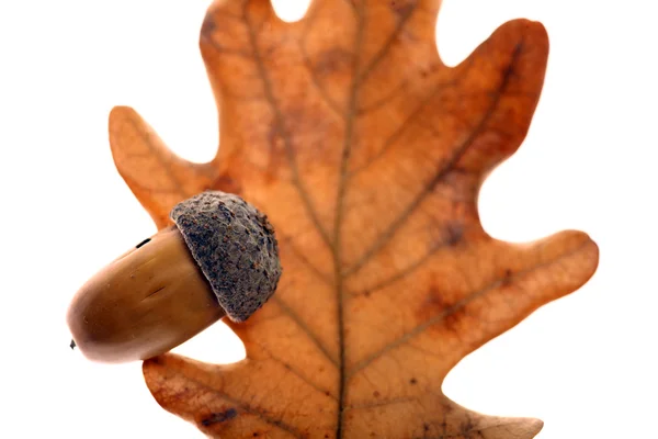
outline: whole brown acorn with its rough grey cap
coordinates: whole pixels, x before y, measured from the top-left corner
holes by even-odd
[[[207,191],[173,207],[174,225],[92,277],[67,314],[72,340],[102,362],[164,353],[227,316],[245,322],[276,290],[281,262],[268,217]]]

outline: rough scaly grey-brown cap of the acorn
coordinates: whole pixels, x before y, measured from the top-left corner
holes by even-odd
[[[281,277],[276,237],[254,206],[207,191],[177,204],[169,215],[231,320],[246,320],[274,293]]]

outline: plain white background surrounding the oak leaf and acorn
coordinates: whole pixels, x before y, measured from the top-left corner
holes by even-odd
[[[284,3],[293,19],[306,2]],[[135,106],[189,159],[214,155],[217,114],[197,50],[207,4],[0,1],[2,438],[202,437],[157,405],[139,363],[72,352],[64,318],[83,281],[155,232],[114,169],[110,109]],[[583,229],[600,245],[599,271],[466,358],[444,386],[473,409],[542,418],[542,439],[658,435],[651,4],[446,0],[439,20],[449,64],[513,18],[540,20],[551,36],[532,128],[485,183],[483,221],[513,241]],[[178,350],[243,356],[222,324]]]

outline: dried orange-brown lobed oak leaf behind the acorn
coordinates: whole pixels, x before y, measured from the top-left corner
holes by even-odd
[[[582,285],[583,233],[511,245],[478,218],[485,176],[524,138],[544,80],[540,23],[512,21],[444,66],[439,0],[316,0],[285,23],[269,0],[211,7],[201,52],[220,108],[216,159],[175,157],[131,109],[116,166],[156,224],[208,188],[276,228],[279,290],[245,324],[236,364],[144,363],[167,410],[223,438],[531,438],[441,391],[473,350]]]

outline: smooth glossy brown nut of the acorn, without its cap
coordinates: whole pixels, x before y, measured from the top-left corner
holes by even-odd
[[[145,360],[225,316],[175,226],[140,243],[75,295],[67,322],[89,359]]]

